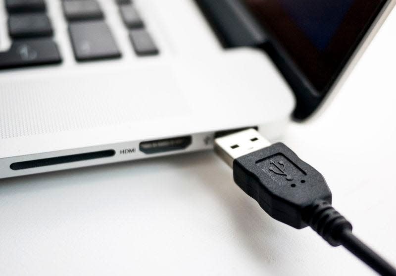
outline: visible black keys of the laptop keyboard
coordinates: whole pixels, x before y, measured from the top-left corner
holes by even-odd
[[[47,0],[49,1],[49,0]],[[60,0],[68,24],[69,38],[77,61],[121,57],[105,11],[97,0]],[[131,0],[114,0],[119,16],[129,31],[129,39],[138,56],[159,53]],[[0,69],[37,66],[62,61],[52,36],[51,20],[45,0],[5,0],[11,47],[0,53]],[[66,45],[69,47],[69,45]]]

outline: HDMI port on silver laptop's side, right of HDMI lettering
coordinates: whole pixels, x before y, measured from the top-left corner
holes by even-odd
[[[141,142],[139,150],[145,154],[183,150],[191,145],[191,136]]]

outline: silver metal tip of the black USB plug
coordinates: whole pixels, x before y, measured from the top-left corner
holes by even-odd
[[[270,146],[271,143],[257,130],[250,128],[214,140],[214,151],[228,166],[234,159]]]

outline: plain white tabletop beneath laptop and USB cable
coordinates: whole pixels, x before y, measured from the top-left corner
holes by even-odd
[[[396,265],[396,12],[332,105],[281,138]],[[0,275],[375,275],[264,214],[212,152],[2,180]]]

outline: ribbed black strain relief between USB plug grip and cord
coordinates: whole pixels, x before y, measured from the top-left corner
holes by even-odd
[[[340,235],[343,231],[352,231],[352,224],[324,200],[315,201],[309,206],[304,218],[305,222],[332,246],[341,245]]]

